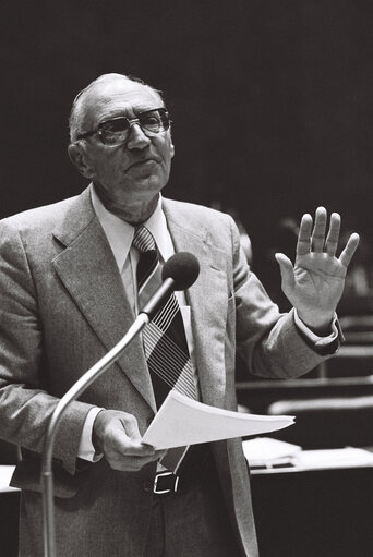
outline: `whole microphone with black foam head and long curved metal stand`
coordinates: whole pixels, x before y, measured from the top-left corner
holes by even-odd
[[[172,255],[164,265],[161,273],[163,283],[140,312],[124,337],[104,358],[85,372],[59,400],[48,424],[41,459],[40,482],[43,485],[45,557],[56,557],[52,456],[57,431],[64,411],[73,400],[77,399],[94,380],[118,360],[130,342],[166,303],[171,293],[175,290],[185,290],[192,286],[198,274],[200,264],[194,255],[188,252],[179,252]]]

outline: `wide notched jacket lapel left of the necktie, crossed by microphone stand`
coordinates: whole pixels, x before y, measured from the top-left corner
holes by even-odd
[[[56,271],[109,351],[123,337],[135,316],[105,232],[92,207],[89,189],[73,202],[53,233],[67,246],[53,261]],[[140,337],[125,349],[117,363],[156,410]]]

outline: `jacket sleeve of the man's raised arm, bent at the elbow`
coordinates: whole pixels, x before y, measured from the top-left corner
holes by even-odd
[[[263,377],[290,378],[308,373],[328,355],[302,335],[294,310],[281,314],[249,268],[231,221],[237,348],[249,370]],[[338,348],[334,347],[334,350]]]

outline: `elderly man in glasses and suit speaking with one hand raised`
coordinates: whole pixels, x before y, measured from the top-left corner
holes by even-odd
[[[298,376],[333,354],[358,235],[337,258],[339,216],[327,231],[325,209],[314,222],[305,215],[294,267],[277,255],[294,307],[279,314],[229,216],[160,196],[175,147],[158,92],[103,75],[75,98],[70,123],[69,155],[89,186],[0,223],[0,423],[23,451],[12,480],[20,554],[43,555],[39,453],[58,399],[128,330],[164,262],[186,251],[201,274],[167,302],[167,325],[146,327],[64,414],[53,455],[58,555],[254,557],[240,440],[165,455],[142,435],[181,383],[236,410],[236,347],[265,377]]]

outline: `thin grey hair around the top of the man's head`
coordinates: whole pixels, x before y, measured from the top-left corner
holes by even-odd
[[[124,80],[130,83],[140,83],[145,88],[151,90],[160,101],[160,104],[164,106],[164,100],[161,97],[161,93],[158,89],[155,89],[151,85],[147,85],[142,80],[139,80],[137,77],[133,77],[130,75],[124,75],[121,73],[105,73],[94,80],[89,85],[87,85],[84,89],[82,89],[76,97],[74,98],[74,101],[72,104],[70,117],[69,117],[69,129],[70,129],[70,141],[71,143],[74,143],[76,141],[76,137],[80,133],[83,132],[82,125],[86,116],[86,98],[88,94],[94,89],[99,83],[106,82],[106,81],[112,81],[112,80]]]

